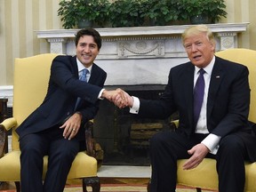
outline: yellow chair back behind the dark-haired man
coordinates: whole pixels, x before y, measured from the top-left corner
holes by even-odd
[[[15,59],[12,113],[17,125],[12,129],[12,150],[19,149],[19,138],[15,129],[44,100],[52,60],[56,56],[56,53],[45,53]]]

